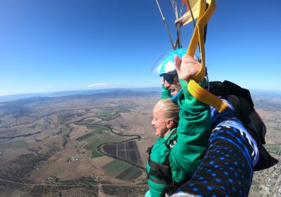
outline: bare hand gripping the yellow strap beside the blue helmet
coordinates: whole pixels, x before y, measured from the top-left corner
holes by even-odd
[[[175,56],[176,72],[178,79],[189,81],[192,76],[195,76],[200,71],[201,63],[188,55],[183,55],[182,58]]]

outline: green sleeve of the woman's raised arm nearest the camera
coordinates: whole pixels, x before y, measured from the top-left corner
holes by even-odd
[[[211,132],[211,113],[206,104],[198,101],[188,91],[188,83],[180,80],[183,93],[178,97],[180,121],[177,143],[169,156],[172,177],[182,182],[200,165],[207,150]],[[200,84],[204,87],[205,82]]]

